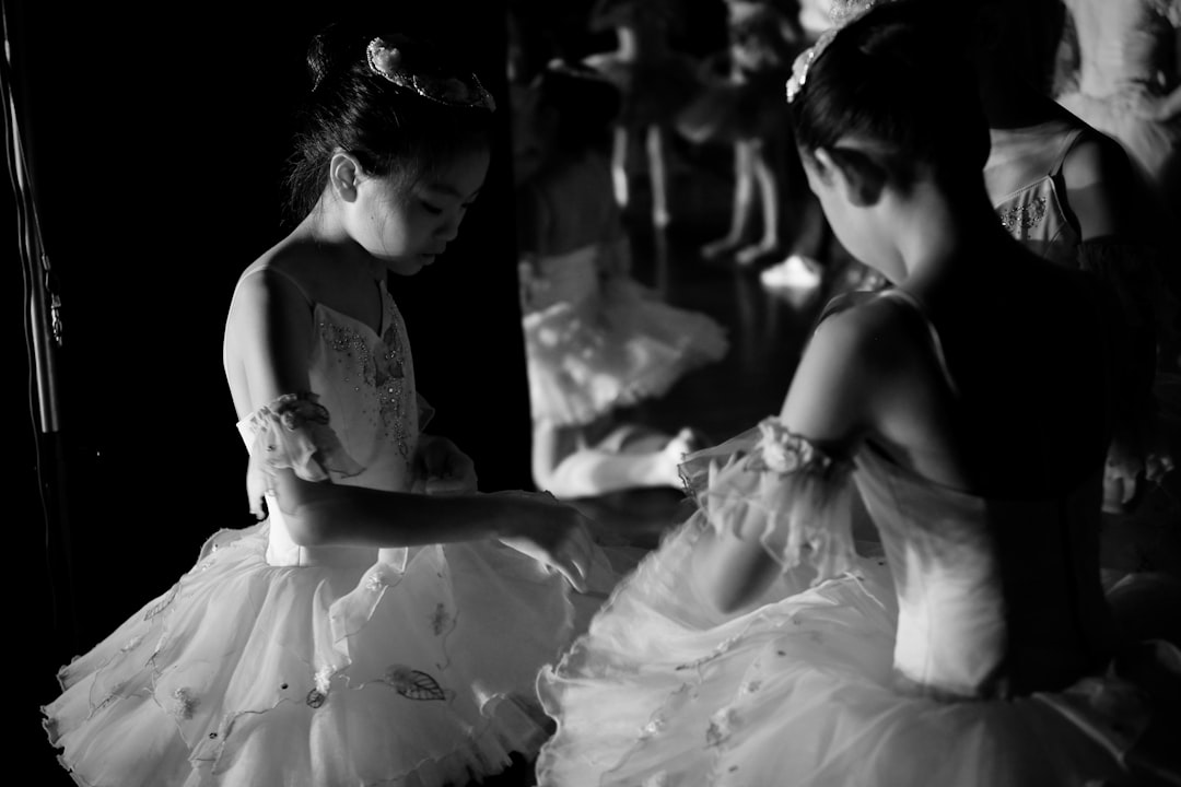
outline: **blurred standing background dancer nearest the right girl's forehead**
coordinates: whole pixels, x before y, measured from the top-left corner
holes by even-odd
[[[680,113],[677,129],[694,143],[733,146],[730,229],[705,244],[702,256],[733,255],[745,267],[781,251],[790,125],[779,98],[791,61],[803,48],[803,31],[796,15],[765,0],[726,0],[726,74]]]

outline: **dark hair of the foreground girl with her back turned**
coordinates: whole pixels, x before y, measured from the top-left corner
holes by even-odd
[[[980,175],[988,124],[945,4],[894,0],[841,28],[791,103],[803,153],[855,136],[881,145],[873,157],[902,188],[913,183],[916,163],[937,178]]]

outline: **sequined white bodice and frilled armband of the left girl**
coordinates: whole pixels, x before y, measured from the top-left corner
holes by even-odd
[[[307,366],[311,401],[318,415],[308,417],[312,411],[301,407],[294,411],[294,422],[292,415],[285,421],[279,411],[287,408],[276,402],[241,420],[237,428],[252,453],[250,473],[255,477],[263,472],[265,461],[272,461],[269,458],[263,460],[260,453],[270,445],[279,445],[278,450],[286,457],[282,461],[311,480],[327,476],[333,484],[385,491],[411,488],[412,457],[420,420],[429,407],[416,394],[413,361],[402,315],[385,282],[378,282],[377,287],[384,304],[378,333],[346,314],[308,301],[314,335]],[[289,396],[299,395],[300,392],[292,392]],[[324,422],[318,425],[317,432],[309,432],[308,426],[318,419]],[[295,428],[292,429],[292,426]],[[294,431],[294,437],[285,434],[285,428]],[[276,439],[269,442],[260,439],[268,433],[273,438],[278,435],[278,442]],[[339,450],[326,451],[325,439]],[[302,455],[298,447],[283,446],[283,440],[296,440],[296,445],[305,446],[307,455]],[[320,470],[324,472],[319,478],[313,467],[313,452],[327,454],[327,459],[321,461]],[[282,512],[274,499],[268,497],[267,504],[270,519],[267,559],[272,564],[335,564],[344,560],[368,565],[377,557],[377,550],[298,546],[287,533]]]

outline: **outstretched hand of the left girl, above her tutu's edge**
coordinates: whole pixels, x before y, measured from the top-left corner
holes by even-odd
[[[520,497],[523,504],[501,543],[555,569],[576,591],[586,592],[593,549],[586,518],[550,494],[496,494]]]

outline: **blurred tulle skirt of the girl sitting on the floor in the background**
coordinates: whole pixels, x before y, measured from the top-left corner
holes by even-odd
[[[606,278],[594,297],[527,314],[524,336],[533,417],[557,425],[659,398],[729,349],[712,319],[624,276]]]

